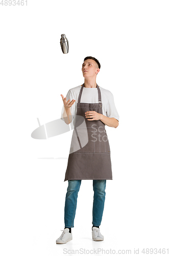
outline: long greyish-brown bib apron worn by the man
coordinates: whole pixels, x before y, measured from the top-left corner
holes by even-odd
[[[80,103],[84,83],[79,93],[77,103],[77,116],[81,116],[86,127],[75,125],[71,145],[80,145],[78,150],[69,154],[65,180],[112,180],[112,168],[110,159],[110,146],[105,130],[105,124],[101,120],[89,121],[85,116],[87,111],[95,111],[103,114],[101,90],[98,88],[99,103]],[[76,117],[77,117],[76,116]],[[83,118],[82,118],[83,117]],[[77,122],[77,121],[76,121]],[[79,133],[78,133],[79,131]],[[80,134],[82,133],[82,136]],[[80,143],[87,135],[86,145]],[[70,147],[70,149],[73,147]],[[75,147],[76,148],[76,147]]]

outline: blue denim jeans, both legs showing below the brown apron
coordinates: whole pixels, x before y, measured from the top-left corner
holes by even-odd
[[[64,207],[65,227],[74,227],[77,198],[81,181],[82,180],[68,180]],[[106,180],[93,180],[94,196],[92,209],[92,224],[94,226],[101,225],[106,195],[105,188]]]

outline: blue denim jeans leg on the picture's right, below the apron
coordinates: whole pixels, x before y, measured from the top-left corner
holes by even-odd
[[[106,180],[93,180],[94,197],[92,210],[92,224],[94,226],[101,225],[106,195],[105,188]]]

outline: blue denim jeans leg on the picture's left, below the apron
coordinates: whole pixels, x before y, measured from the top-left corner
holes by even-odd
[[[74,219],[76,215],[77,198],[80,185],[81,180],[68,180],[64,207],[65,227],[74,227]]]

